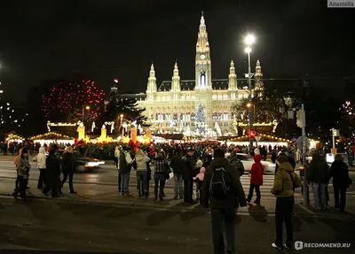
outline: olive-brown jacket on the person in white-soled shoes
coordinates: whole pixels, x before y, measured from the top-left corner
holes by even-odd
[[[295,186],[293,186],[290,174],[295,182]],[[296,189],[300,186],[301,180],[295,173],[292,165],[289,162],[282,163],[273,181],[272,194],[276,197],[294,196],[294,188]]]

